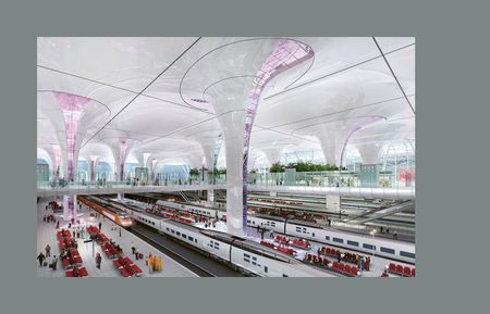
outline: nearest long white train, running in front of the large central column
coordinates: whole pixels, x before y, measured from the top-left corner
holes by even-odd
[[[173,219],[156,216],[144,211],[144,206],[131,205],[131,202],[117,204],[91,198],[87,205],[105,208],[110,205],[125,209],[130,218],[149,226],[187,246],[209,254],[217,260],[240,268],[246,274],[259,277],[335,277],[336,274],[305,264],[292,256],[278,252],[260,243],[230,236],[224,233],[203,230],[198,227]],[[117,221],[114,221],[117,222]]]

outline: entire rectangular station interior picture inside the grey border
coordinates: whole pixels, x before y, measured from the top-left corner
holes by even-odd
[[[33,267],[415,277],[415,112],[413,37],[39,37]]]

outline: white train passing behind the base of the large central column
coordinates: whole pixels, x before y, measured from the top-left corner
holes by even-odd
[[[184,204],[159,200],[157,205],[173,210],[198,213],[209,217],[222,218],[225,211],[210,206]],[[316,224],[301,221],[289,221],[281,217],[248,215],[247,226],[261,227],[273,230],[274,233],[287,236],[298,237],[333,247],[358,251],[366,254],[387,258],[393,261],[415,264],[415,243],[399,240],[376,238],[363,234],[354,234],[338,230],[333,227],[322,228]]]

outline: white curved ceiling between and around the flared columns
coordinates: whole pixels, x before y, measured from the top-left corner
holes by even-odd
[[[113,160],[108,146],[127,138],[135,142],[132,160],[151,153],[157,160],[200,161],[200,142],[212,143],[221,127],[209,103],[182,99],[181,80],[200,56],[244,39],[38,38],[38,148],[65,147],[62,113],[51,93],[62,91],[98,104],[83,122],[81,158]],[[414,38],[376,38],[379,48],[370,37],[293,39],[311,47],[315,58],[267,86],[252,134],[254,155],[274,148],[320,148],[317,128],[309,126],[335,129],[345,121],[348,127],[365,116],[383,118],[354,133],[350,143],[415,138]],[[249,42],[240,58],[255,53]],[[236,58],[226,62],[240,62]]]

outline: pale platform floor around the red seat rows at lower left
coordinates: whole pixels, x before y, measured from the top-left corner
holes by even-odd
[[[51,258],[48,258],[48,263],[51,262],[53,255],[59,255],[59,246],[56,237],[56,224],[53,223],[44,223],[42,217],[47,213],[45,210],[46,204],[48,203],[48,199],[40,201],[37,204],[37,252],[33,256],[33,264],[36,267],[36,274],[38,277],[65,277],[65,271],[63,269],[60,261],[58,261],[58,269],[51,271],[49,267],[39,267],[39,263],[36,256],[39,252],[45,253],[46,244],[49,243],[51,247]],[[48,213],[51,213],[48,210]],[[106,217],[101,218],[89,218],[88,208],[83,206],[82,211],[78,211],[78,217],[81,219],[81,224],[94,224],[98,226],[99,221],[102,222],[102,233],[112,238],[115,243],[120,244],[123,249],[124,255],[130,256],[130,259],[135,262],[139,268],[143,269],[143,277],[197,277],[196,274],[185,268],[181,264],[176,263],[174,260],[159,252],[157,249],[135,237],[134,235],[126,231],[124,228],[121,229],[121,237],[119,236],[120,227],[114,223],[109,221]],[[57,216],[57,219],[61,219],[61,215]],[[68,223],[60,221],[60,228],[68,227]],[[88,238],[88,235],[85,235],[85,238]],[[93,256],[93,243],[83,243],[84,239],[76,239],[78,242],[78,251],[81,258],[83,260],[83,266],[87,268],[89,277],[122,277],[119,271],[112,264],[112,261],[109,260],[106,254],[103,254],[102,250],[97,243],[94,243],[94,253],[97,254],[99,252],[102,255],[102,263],[100,265],[100,269],[96,267],[95,258]],[[139,252],[142,252],[145,256],[151,252],[154,255],[162,256],[162,272],[149,273],[148,267],[145,265],[145,260],[136,261],[134,255],[131,254],[132,243],[138,248]]]

